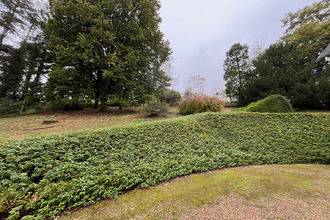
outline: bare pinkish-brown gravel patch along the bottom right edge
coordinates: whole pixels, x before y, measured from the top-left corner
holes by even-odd
[[[178,219],[328,220],[330,213],[329,209],[325,207],[328,202],[324,199],[303,201],[287,196],[278,197],[276,200],[262,199],[250,202],[231,195],[222,197],[214,205],[181,213]]]

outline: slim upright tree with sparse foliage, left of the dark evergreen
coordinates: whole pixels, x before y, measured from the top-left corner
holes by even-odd
[[[226,95],[230,99],[237,100],[239,106],[246,104],[243,88],[248,80],[248,61],[248,46],[236,43],[226,52],[226,60],[223,64]]]

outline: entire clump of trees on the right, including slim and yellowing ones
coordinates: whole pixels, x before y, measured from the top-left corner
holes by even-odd
[[[330,109],[330,66],[325,60],[314,63],[330,43],[329,4],[329,0],[321,0],[287,14],[282,20],[287,27],[282,40],[252,60],[248,70],[235,69],[240,67],[235,62],[247,63],[247,55],[235,57],[227,52],[226,93],[234,95],[241,106],[280,94],[294,108]],[[237,52],[243,50],[239,45],[236,47]]]

